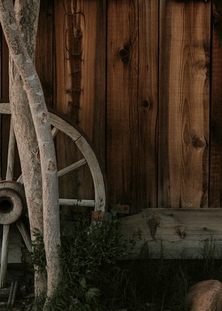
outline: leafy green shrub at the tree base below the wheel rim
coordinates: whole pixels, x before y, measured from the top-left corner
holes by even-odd
[[[104,270],[118,271],[117,260],[127,254],[128,243],[119,232],[116,213],[106,221],[91,222],[86,213],[77,213],[70,230],[61,229],[60,258],[63,279],[49,303],[52,311],[107,311],[100,278]]]

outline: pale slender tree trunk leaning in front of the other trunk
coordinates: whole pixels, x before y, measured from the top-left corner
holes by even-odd
[[[47,294],[50,297],[60,279],[60,263],[57,248],[60,244],[60,226],[57,163],[49,113],[40,80],[25,49],[17,26],[12,0],[0,0],[0,23],[10,56],[24,84],[38,141],[42,189],[44,189],[42,199],[48,279]]]

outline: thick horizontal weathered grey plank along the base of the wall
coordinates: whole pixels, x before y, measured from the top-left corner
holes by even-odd
[[[128,258],[138,258],[142,250],[153,258],[160,254],[171,259],[204,254],[221,258],[221,219],[218,208],[145,209],[120,219],[120,229],[127,238],[136,233],[136,245]]]

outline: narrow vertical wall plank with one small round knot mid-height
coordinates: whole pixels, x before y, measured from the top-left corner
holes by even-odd
[[[137,213],[156,207],[158,109],[158,1],[139,1]]]

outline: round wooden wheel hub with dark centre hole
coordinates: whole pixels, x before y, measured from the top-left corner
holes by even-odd
[[[0,181],[0,224],[16,222],[26,211],[25,191],[12,180]]]

